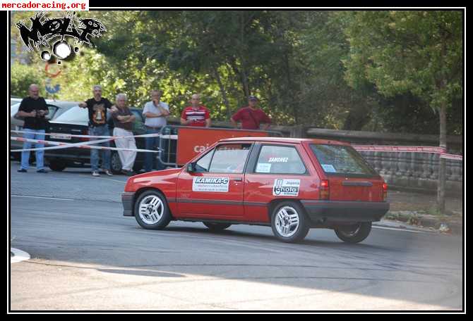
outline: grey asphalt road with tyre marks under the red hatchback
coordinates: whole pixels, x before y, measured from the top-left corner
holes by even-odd
[[[373,228],[361,244],[312,229],[142,229],[122,216],[126,177],[18,173],[11,163],[11,311],[462,310],[462,239]]]

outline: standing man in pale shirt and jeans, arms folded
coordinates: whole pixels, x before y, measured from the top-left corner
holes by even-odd
[[[145,126],[147,134],[158,134],[161,128],[167,125],[167,116],[169,116],[169,105],[161,100],[162,92],[153,90],[151,92],[151,101],[145,103],[143,116],[145,116]],[[154,150],[159,146],[159,137],[146,137],[146,149]],[[164,153],[164,151],[162,151]],[[158,155],[161,155],[158,153]],[[153,159],[157,159],[154,153],[146,153],[145,171],[151,172],[153,168]],[[156,162],[157,170],[164,170],[164,166],[159,160]]]

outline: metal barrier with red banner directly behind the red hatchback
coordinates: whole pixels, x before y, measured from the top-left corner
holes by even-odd
[[[186,140],[187,146],[184,146],[184,141],[179,141],[179,132],[185,132],[181,139]],[[282,132],[168,125],[162,127],[160,131],[157,161],[163,166],[177,168],[205,151],[215,141],[232,137],[282,137]]]

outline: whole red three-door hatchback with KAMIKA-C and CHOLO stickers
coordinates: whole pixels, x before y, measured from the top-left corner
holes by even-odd
[[[183,168],[130,177],[122,202],[145,229],[172,220],[213,230],[266,225],[292,242],[329,228],[357,243],[388,212],[387,189],[347,143],[245,137],[217,141]]]

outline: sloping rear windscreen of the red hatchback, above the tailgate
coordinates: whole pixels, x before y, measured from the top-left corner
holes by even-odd
[[[378,175],[351,146],[311,144],[311,149],[328,175]]]

